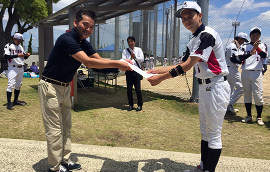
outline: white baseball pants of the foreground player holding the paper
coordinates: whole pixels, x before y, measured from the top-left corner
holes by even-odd
[[[230,86],[223,76],[209,84],[199,85],[199,125],[201,139],[211,149],[221,149],[221,129],[230,97]],[[213,77],[215,78],[215,77]],[[211,80],[211,79],[210,79]]]

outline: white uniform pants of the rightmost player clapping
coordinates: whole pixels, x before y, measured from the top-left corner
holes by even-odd
[[[262,100],[262,73],[261,71],[242,70],[244,103],[252,103],[252,93],[255,105],[263,105]]]

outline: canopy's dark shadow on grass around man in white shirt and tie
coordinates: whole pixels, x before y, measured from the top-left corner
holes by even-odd
[[[107,88],[112,88],[106,86]],[[142,92],[142,100],[143,103],[154,101],[157,99],[167,99],[167,100],[177,100],[180,102],[184,102],[180,98],[175,98],[173,96],[163,96],[159,94],[155,94],[148,91],[141,91]],[[137,98],[135,90],[133,90],[133,101],[134,107],[136,108],[137,105]],[[94,87],[83,90],[78,89],[78,98],[77,102],[78,105],[73,110],[75,112],[85,111],[85,110],[92,110],[92,109],[99,109],[99,108],[116,108],[120,110],[126,110],[128,108],[128,100],[126,95],[126,88],[117,86],[117,93],[115,93],[115,89],[108,89],[106,93],[104,92],[104,85],[99,84],[99,87],[95,84]],[[186,102],[186,101],[185,101]],[[143,108],[143,106],[142,106]]]

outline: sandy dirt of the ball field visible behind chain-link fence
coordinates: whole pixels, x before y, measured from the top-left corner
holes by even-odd
[[[161,66],[157,66],[156,68],[160,68]],[[241,71],[241,70],[240,70]],[[197,82],[195,80],[195,82]],[[108,82],[111,84],[111,81]],[[180,97],[183,99],[189,100],[192,95],[192,83],[193,83],[193,70],[189,70],[186,72],[185,76],[178,76],[174,78],[167,79],[162,81],[160,84],[156,86],[151,86],[151,84],[147,81],[147,79],[143,78],[141,80],[141,90],[151,91],[154,93],[159,93],[162,95],[170,95],[175,97]],[[113,80],[113,84],[115,84],[115,80]],[[117,76],[117,86],[126,87],[125,75],[124,72],[120,72]],[[267,75],[267,72],[263,76],[263,101],[264,104],[270,104],[270,73]],[[190,92],[189,92],[190,89]],[[238,100],[237,103],[243,102],[243,95]],[[254,103],[254,102],[253,102]]]

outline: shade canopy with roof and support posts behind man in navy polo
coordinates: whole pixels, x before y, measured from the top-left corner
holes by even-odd
[[[69,25],[73,28],[76,12],[80,9],[91,9],[97,15],[96,23],[105,23],[107,19],[124,15],[137,10],[154,10],[154,5],[169,0],[77,0],[59,11],[32,24],[38,27],[38,50],[39,50],[39,79],[44,70],[44,27]],[[94,33],[93,33],[94,34]],[[92,35],[93,35],[92,34]],[[91,36],[92,36],[91,35]],[[90,36],[90,37],[91,37]],[[95,39],[95,36],[92,36]],[[91,40],[90,40],[91,42]],[[94,41],[95,42],[95,41]],[[73,77],[72,105],[77,105],[77,75]]]

